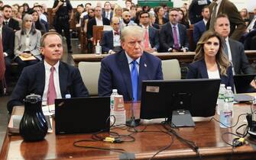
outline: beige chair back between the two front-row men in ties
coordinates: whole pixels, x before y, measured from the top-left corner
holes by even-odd
[[[90,96],[98,95],[98,80],[101,62],[79,62],[78,69]]]

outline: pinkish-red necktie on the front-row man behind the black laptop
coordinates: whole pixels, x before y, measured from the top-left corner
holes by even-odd
[[[50,68],[50,78],[49,78],[49,85],[48,85],[48,92],[47,92],[47,105],[54,104],[54,101],[57,98],[55,86],[54,86],[54,79],[53,79],[54,70],[55,68],[52,66]]]

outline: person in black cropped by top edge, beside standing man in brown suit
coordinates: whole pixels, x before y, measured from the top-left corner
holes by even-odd
[[[193,0],[189,8],[189,17],[191,24],[196,24],[197,22],[203,20],[201,11],[211,2],[209,0]]]

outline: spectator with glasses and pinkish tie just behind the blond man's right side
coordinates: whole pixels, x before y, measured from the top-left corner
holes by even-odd
[[[149,25],[149,16],[147,11],[141,11],[141,14],[139,15],[141,27],[145,30],[144,50],[148,53],[153,53],[159,49],[159,36],[158,30]]]

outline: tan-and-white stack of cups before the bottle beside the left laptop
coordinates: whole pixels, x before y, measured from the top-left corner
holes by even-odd
[[[114,126],[124,126],[126,122],[125,103],[122,95],[115,95],[113,115],[115,116]]]

